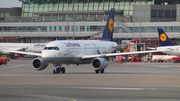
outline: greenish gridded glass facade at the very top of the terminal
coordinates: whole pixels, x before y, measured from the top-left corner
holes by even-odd
[[[123,16],[133,15],[133,5],[154,4],[154,0],[21,0],[22,17],[35,16],[33,12],[106,11],[123,10]]]

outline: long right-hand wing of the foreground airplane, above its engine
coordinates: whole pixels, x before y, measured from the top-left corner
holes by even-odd
[[[83,55],[81,59],[89,59],[96,57],[111,57],[117,55],[130,55],[130,54],[141,54],[141,53],[153,53],[153,52],[167,52],[168,50],[151,50],[151,51],[136,51],[136,52],[121,52],[121,53],[110,53],[110,54],[97,54],[97,55]]]

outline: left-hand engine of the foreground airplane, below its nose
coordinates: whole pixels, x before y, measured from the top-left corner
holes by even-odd
[[[34,69],[36,70],[43,70],[45,69],[47,66],[49,65],[48,62],[44,61],[42,58],[35,58],[32,61],[32,66],[34,67]]]

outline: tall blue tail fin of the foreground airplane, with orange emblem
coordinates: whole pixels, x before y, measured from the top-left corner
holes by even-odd
[[[111,11],[109,13],[109,17],[106,23],[106,27],[104,29],[103,36],[100,40],[106,40],[106,41],[113,40],[114,12],[115,12],[115,9],[111,8]]]

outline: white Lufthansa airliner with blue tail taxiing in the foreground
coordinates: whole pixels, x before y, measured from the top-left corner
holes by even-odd
[[[109,64],[109,57],[117,55],[160,52],[162,50],[112,53],[119,45],[112,41],[115,9],[112,8],[100,40],[59,40],[48,43],[41,53],[3,50],[4,52],[39,56],[32,61],[36,70],[45,69],[53,63],[53,73],[65,73],[62,64],[92,64],[95,73],[104,73]],[[163,50],[166,51],[166,50]]]

